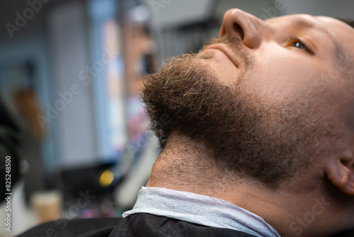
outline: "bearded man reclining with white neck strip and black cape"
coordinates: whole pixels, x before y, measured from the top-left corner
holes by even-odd
[[[219,38],[147,78],[163,149],[109,236],[345,236],[353,40],[334,18],[227,11]]]

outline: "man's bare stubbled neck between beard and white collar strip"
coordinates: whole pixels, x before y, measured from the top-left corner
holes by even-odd
[[[325,221],[324,216],[331,214],[331,200],[321,194],[319,180],[307,175],[302,178],[306,185],[292,182],[283,185],[286,189],[270,189],[223,167],[202,143],[173,133],[152,168],[147,187],[223,199],[261,216],[281,236],[329,236],[331,231],[321,227],[321,219]],[[338,209],[333,214],[338,214]],[[321,228],[324,233],[319,233]],[[336,231],[333,227],[333,233]]]

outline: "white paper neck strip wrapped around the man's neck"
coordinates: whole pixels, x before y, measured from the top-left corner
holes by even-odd
[[[142,187],[130,214],[149,213],[214,228],[229,228],[254,236],[280,237],[260,216],[231,202],[192,192]]]

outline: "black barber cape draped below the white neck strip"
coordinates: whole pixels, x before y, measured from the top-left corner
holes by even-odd
[[[57,220],[36,226],[18,237],[254,237],[227,228],[212,228],[147,213],[122,218]]]

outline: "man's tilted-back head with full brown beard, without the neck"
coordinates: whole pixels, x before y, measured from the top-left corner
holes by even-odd
[[[268,187],[316,167],[354,195],[353,28],[232,9],[219,36],[147,78],[142,99],[161,146],[177,131]]]

